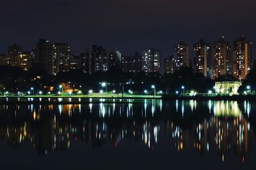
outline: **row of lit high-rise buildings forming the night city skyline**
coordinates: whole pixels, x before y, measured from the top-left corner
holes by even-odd
[[[42,38],[39,38],[31,52],[13,43],[8,47],[8,54],[0,54],[0,65],[20,66],[23,70],[39,66],[51,75],[74,69],[81,69],[84,73],[106,72],[111,68],[120,68],[124,72],[163,74],[188,66],[195,73],[211,79],[232,75],[241,81],[250,72],[254,62],[253,42],[246,36],[234,40],[233,45],[224,36],[215,42],[201,39],[193,46],[179,42],[173,47],[173,55],[167,58],[154,46],[136,51],[133,56],[123,55],[117,49],[106,50],[98,45],[92,45],[79,55],[72,54],[72,49],[68,43],[56,43]]]

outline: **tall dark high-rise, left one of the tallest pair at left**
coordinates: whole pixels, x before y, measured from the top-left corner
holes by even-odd
[[[39,39],[35,49],[35,64],[51,75],[56,75],[54,44],[49,40]]]

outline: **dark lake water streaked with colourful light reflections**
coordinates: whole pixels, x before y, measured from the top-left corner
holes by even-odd
[[[0,105],[1,169],[256,169],[256,102]]]

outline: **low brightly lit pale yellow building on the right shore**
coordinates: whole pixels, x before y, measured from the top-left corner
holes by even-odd
[[[215,93],[238,95],[242,82],[215,82]]]

